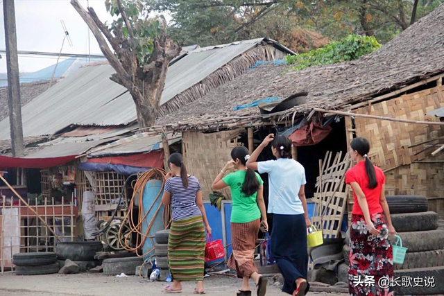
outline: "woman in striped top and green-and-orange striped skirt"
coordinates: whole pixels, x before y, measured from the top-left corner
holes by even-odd
[[[167,175],[162,202],[171,204],[173,211],[168,239],[168,265],[173,284],[164,287],[164,292],[180,293],[180,281],[197,281],[194,294],[205,294],[205,229],[211,234],[211,227],[203,207],[202,188],[196,177],[188,175],[180,153],[169,157],[168,166],[171,173]]]

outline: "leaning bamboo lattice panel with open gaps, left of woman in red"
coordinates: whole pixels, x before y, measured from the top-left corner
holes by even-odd
[[[348,153],[326,153],[321,163],[320,176],[316,180],[317,191],[314,194],[315,214],[312,223],[323,230],[325,238],[341,236],[343,214],[348,200],[349,187],[345,185],[343,175],[350,162]]]

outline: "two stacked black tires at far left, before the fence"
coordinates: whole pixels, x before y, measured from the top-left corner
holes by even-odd
[[[12,263],[16,275],[49,275],[59,270],[54,252],[17,253],[12,256]]]

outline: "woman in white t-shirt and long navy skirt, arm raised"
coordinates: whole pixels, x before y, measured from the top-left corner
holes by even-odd
[[[256,162],[271,143],[276,160]],[[248,168],[268,173],[268,213],[273,214],[271,253],[284,277],[282,291],[293,296],[308,293],[307,227],[311,222],[305,199],[305,169],[291,159],[291,141],[268,134],[247,162]]]

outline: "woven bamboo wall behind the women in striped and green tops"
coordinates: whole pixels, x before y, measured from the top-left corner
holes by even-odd
[[[239,146],[237,137],[243,130],[228,130],[203,134],[202,132],[182,132],[182,153],[190,175],[198,178],[202,185],[203,199],[209,199],[214,178],[231,159],[232,148]],[[221,191],[231,199],[230,190]]]

